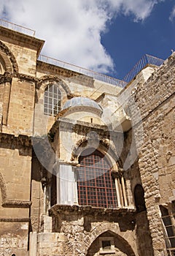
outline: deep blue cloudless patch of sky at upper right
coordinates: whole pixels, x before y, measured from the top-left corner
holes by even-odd
[[[167,59],[175,50],[175,19],[170,20],[174,1],[156,4],[144,21],[133,22],[133,17],[119,15],[102,36],[102,44],[114,59],[116,72],[123,78],[145,53]]]

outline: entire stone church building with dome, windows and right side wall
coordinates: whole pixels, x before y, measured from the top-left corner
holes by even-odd
[[[175,54],[125,83],[0,31],[0,255],[174,256]]]

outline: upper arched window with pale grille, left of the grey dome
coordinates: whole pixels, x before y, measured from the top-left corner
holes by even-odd
[[[44,91],[44,114],[56,116],[61,111],[61,91],[58,85],[49,84]]]

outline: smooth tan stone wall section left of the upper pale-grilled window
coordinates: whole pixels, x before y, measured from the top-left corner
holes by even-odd
[[[18,78],[12,79],[7,113],[7,127],[2,131],[15,135],[32,135],[34,119],[35,84]]]

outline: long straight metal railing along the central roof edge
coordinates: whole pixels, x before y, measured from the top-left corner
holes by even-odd
[[[80,74],[83,74],[83,75],[88,75],[88,76],[90,76],[90,77],[92,77],[96,80],[101,80],[102,82],[110,83],[114,86],[119,86],[121,88],[124,88],[125,85],[126,85],[125,81],[123,81],[123,80],[120,80],[120,79],[117,79],[117,78],[112,78],[112,77],[109,77],[108,75],[104,75],[104,74],[95,72],[95,71],[90,70],[90,69],[85,69],[83,67],[78,67],[74,64],[70,64],[70,63],[67,63],[67,62],[64,62],[64,61],[60,61],[58,59],[53,59],[53,58],[44,56],[42,54],[39,55],[38,60],[46,62],[48,64],[58,66],[58,67],[63,67],[65,69],[70,69],[74,72],[79,72]]]

